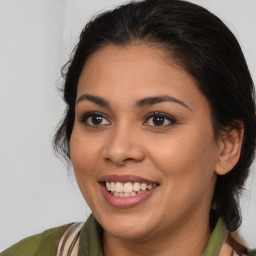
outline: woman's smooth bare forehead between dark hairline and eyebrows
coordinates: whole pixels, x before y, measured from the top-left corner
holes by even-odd
[[[146,44],[108,45],[93,53],[79,78],[77,96],[84,93],[120,102],[168,94],[188,104],[208,104],[184,69],[162,50]]]

